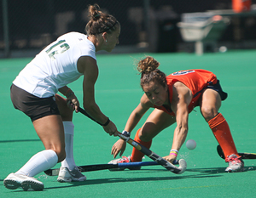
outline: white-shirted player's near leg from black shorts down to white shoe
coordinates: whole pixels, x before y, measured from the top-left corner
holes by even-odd
[[[32,156],[16,173],[9,174],[3,180],[3,184],[11,190],[19,187],[24,190],[44,190],[44,184],[32,177],[54,167],[58,160],[61,161],[65,158],[61,116],[52,97],[40,99],[12,85],[11,99],[15,109],[21,110],[32,119],[46,150]]]

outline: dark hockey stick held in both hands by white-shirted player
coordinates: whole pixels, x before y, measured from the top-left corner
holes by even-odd
[[[81,107],[79,107],[79,112],[81,112],[82,114],[84,114],[84,116],[89,117],[91,120],[93,120],[94,122],[96,122],[95,119],[93,119],[85,110],[83,110]],[[99,123],[99,122],[97,122]],[[99,123],[100,125],[102,125],[101,123]],[[153,161],[156,161],[157,163],[159,163],[162,167],[165,167],[167,170],[171,171],[172,173],[177,173],[177,174],[181,174],[184,173],[185,170],[187,169],[187,162],[183,159],[180,159],[178,161],[179,167],[174,166],[172,163],[170,163],[169,161],[166,161],[164,158],[162,158],[161,156],[158,156],[156,153],[154,153],[151,150],[148,150],[148,148],[146,148],[145,146],[143,146],[142,144],[137,143],[136,141],[134,141],[133,139],[130,139],[129,137],[126,137],[125,135],[123,135],[122,133],[118,134],[119,138],[124,139],[126,142],[128,142],[128,144],[131,144],[133,147],[135,147],[137,150],[140,150],[144,155],[148,156],[150,159],[152,159]]]

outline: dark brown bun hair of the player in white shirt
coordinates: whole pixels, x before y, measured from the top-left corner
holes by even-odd
[[[98,4],[89,5],[88,13],[89,22],[85,26],[87,35],[97,35],[105,31],[111,34],[119,25],[113,15],[102,13]]]

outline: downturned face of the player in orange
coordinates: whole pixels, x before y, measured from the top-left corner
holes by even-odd
[[[149,82],[143,85],[143,91],[153,105],[168,104],[167,86],[164,88],[159,82]]]

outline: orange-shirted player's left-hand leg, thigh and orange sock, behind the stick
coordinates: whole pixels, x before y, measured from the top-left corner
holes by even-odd
[[[137,130],[134,140],[149,149],[152,139],[166,127],[171,126],[175,122],[175,116],[168,115],[162,110],[154,109],[148,116],[147,121],[143,124],[143,127]],[[144,154],[142,152],[133,148],[131,161],[142,161],[143,156]]]

